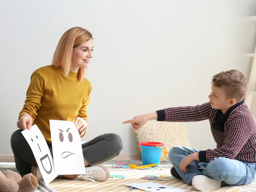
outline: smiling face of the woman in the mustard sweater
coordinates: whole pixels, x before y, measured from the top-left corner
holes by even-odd
[[[88,68],[89,62],[93,57],[93,41],[89,41],[78,45],[73,50],[72,55],[72,71],[78,71],[80,67]],[[76,70],[77,69],[77,70]]]

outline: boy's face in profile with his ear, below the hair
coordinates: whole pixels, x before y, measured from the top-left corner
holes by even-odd
[[[227,98],[223,87],[211,86],[212,92],[208,96],[213,109],[221,109],[223,113],[232,107],[236,100],[234,98]]]

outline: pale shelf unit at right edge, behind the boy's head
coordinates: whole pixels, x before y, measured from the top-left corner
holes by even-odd
[[[246,17],[247,20],[256,21],[256,15],[251,17]],[[252,57],[252,67],[251,72],[248,80],[248,92],[245,99],[245,103],[251,108],[252,105],[252,97],[256,95],[255,84],[256,84],[256,45],[254,49],[254,53],[246,53],[244,54],[246,57]]]

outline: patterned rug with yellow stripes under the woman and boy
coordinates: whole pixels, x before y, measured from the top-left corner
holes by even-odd
[[[61,176],[53,180],[48,186],[44,185],[44,181],[39,182],[39,187],[36,192],[84,192],[84,191],[129,191],[130,187],[125,185],[126,183],[145,183],[153,182],[159,183],[167,186],[172,186],[176,188],[188,189],[191,191],[196,191],[192,186],[187,185],[182,180],[177,180],[171,178],[167,181],[155,181],[155,180],[143,180],[140,179],[145,175],[170,175],[170,168],[172,165],[170,163],[160,163],[160,168],[163,170],[147,171],[147,170],[137,170],[131,168],[112,168],[112,164],[119,163],[121,161],[108,161],[102,165],[107,166],[110,175],[124,175],[125,179],[119,178],[109,178],[105,182],[87,182],[78,180],[67,180]],[[127,164],[141,165],[141,161],[138,160],[127,160]],[[16,171],[15,163],[0,162],[0,170],[12,170]],[[132,191],[141,191],[140,189],[132,189]],[[211,190],[209,192],[255,192],[256,191],[256,180],[250,185],[228,187],[222,186],[219,189]]]

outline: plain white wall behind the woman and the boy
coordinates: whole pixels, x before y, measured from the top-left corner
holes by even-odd
[[[32,72],[50,65],[71,27],[94,36],[87,78],[93,91],[86,136],[115,132],[122,153],[138,152],[124,120],[172,106],[208,101],[211,77],[229,69],[249,76],[254,52],[255,0],[1,1],[0,154],[11,154]],[[194,148],[214,148],[207,121],[188,123]]]

